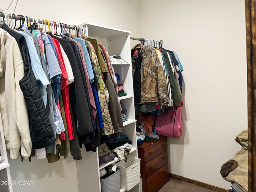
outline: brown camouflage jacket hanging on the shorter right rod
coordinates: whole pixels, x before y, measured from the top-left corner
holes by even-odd
[[[141,76],[141,103],[159,102],[160,105],[168,104],[168,92],[164,70],[153,47],[140,44],[142,56]],[[134,49],[134,48],[133,48]],[[136,64],[132,63],[133,73]]]

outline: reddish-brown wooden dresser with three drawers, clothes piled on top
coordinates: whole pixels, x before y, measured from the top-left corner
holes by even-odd
[[[143,192],[158,192],[169,181],[167,138],[138,146]]]

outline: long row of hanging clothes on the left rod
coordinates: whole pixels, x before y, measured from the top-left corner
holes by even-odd
[[[11,28],[11,20],[5,14],[0,28],[0,112],[10,158],[52,163],[71,152],[80,160],[82,144],[96,152],[101,136],[122,132],[106,48],[81,27],[72,34],[45,20],[47,31],[22,19]]]

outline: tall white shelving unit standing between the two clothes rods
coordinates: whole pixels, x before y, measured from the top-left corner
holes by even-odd
[[[124,91],[127,94],[126,96],[120,97],[120,101],[127,109],[127,121],[123,123],[122,134],[126,134],[129,140],[132,141],[130,156],[138,158],[132,82],[132,60],[130,52],[130,31],[92,23],[84,23],[80,26],[86,27],[89,37],[95,38],[98,43],[103,44],[110,56],[118,54],[122,59],[127,61],[122,64],[120,62],[112,62],[111,64],[114,67],[115,72],[120,75],[119,83],[124,86]],[[82,158],[82,160],[76,162],[79,192],[100,192],[100,169],[117,162],[118,159],[99,166],[98,150],[96,153],[85,152],[84,147],[82,148]],[[120,189],[120,192],[124,191],[124,189]],[[130,190],[130,192],[139,191],[139,184]]]

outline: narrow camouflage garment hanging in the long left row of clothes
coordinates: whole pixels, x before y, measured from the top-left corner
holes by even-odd
[[[89,52],[92,66],[95,70],[97,80],[99,83],[99,85],[97,86],[97,90],[98,90],[98,97],[100,100],[100,109],[102,112],[102,120],[103,120],[103,124],[104,124],[104,127],[102,128],[102,135],[110,135],[110,134],[114,133],[114,128],[113,128],[109,110],[108,110],[109,93],[108,93],[106,85],[102,79],[100,65],[98,62],[96,52],[95,52],[90,41],[85,40],[85,44],[86,44],[86,48]]]

